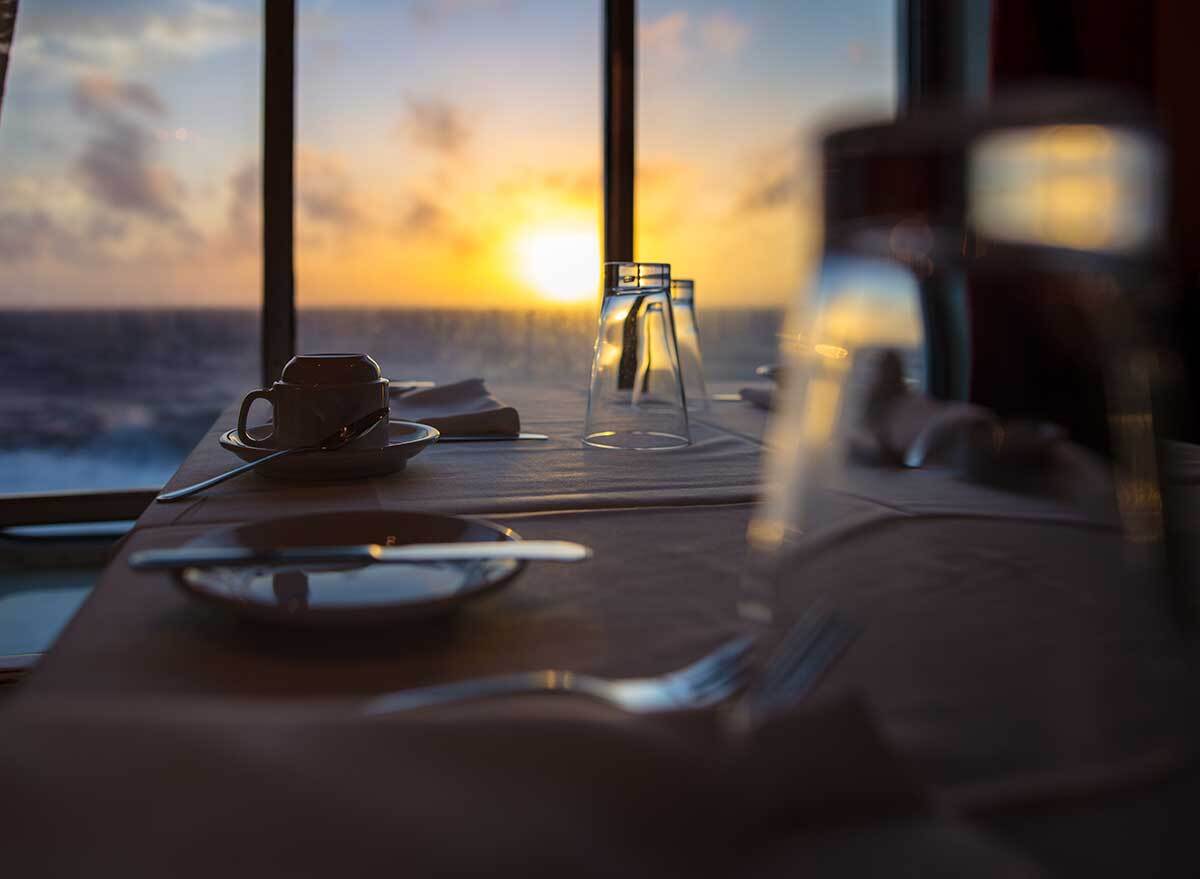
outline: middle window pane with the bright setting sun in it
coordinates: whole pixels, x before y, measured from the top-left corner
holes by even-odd
[[[392,379],[586,382],[600,4],[300,8],[300,348]]]

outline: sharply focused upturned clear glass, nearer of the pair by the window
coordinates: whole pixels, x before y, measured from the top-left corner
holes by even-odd
[[[691,443],[670,265],[604,265],[583,442],[601,449],[635,450]]]

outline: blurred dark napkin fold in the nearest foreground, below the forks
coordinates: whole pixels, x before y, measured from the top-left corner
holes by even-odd
[[[5,865],[13,875],[103,863],[211,877],[234,856],[238,875],[352,863],[630,879],[857,877],[870,863],[1040,874],[940,813],[857,700],[732,741],[710,712],[689,714],[634,717],[562,695],[379,718],[311,702],[28,701],[0,751]]]

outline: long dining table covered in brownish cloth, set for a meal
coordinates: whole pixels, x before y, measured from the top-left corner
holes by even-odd
[[[868,474],[805,537],[816,549],[785,604],[832,598],[858,634],[770,723],[557,695],[364,719],[383,694],[486,675],[656,675],[742,630],[768,412],[712,402],[691,413],[688,448],[602,450],[580,441],[580,389],[494,391],[548,438],[434,444],[354,482],[251,474],[151,504],[0,701],[14,841],[0,862],[66,872],[140,851],[180,874],[224,857],[319,872],[350,849],[402,855],[413,874],[522,857],[577,875],[1200,862],[1181,820],[1200,790],[1193,639],[1152,587],[1114,575],[1096,522],[947,473]],[[217,442],[235,418],[216,419],[167,490],[236,462]],[[128,566],[216,527],[362,510],[481,518],[594,555],[532,563],[444,618],[320,632],[234,617]]]

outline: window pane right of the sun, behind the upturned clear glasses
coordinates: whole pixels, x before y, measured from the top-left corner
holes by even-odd
[[[637,13],[635,252],[695,280],[709,378],[750,378],[820,246],[815,138],[894,110],[895,1]]]

